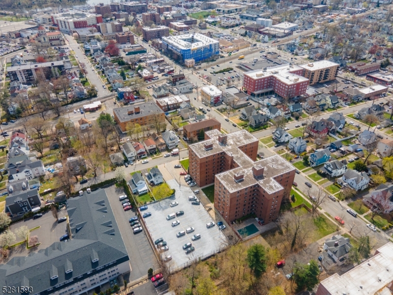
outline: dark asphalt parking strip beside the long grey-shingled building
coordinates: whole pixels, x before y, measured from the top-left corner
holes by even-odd
[[[142,231],[134,235],[132,232],[128,220],[136,214],[134,210],[123,210],[121,202],[119,202],[119,196],[124,194],[123,189],[112,185],[106,188],[105,191],[130,258],[131,273],[127,279],[132,282],[146,275],[150,267],[157,269],[158,262],[146,233]]]

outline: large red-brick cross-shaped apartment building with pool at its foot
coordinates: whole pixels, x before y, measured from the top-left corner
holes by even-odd
[[[198,186],[214,183],[214,207],[226,222],[254,213],[265,224],[279,216],[295,167],[279,155],[255,161],[258,139],[246,130],[205,132],[189,146],[189,173]]]

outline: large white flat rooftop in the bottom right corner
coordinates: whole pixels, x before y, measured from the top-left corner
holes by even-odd
[[[364,263],[355,266],[343,275],[335,273],[323,280],[323,285],[332,295],[391,294],[387,285],[393,281],[393,243],[377,249],[376,254]]]

